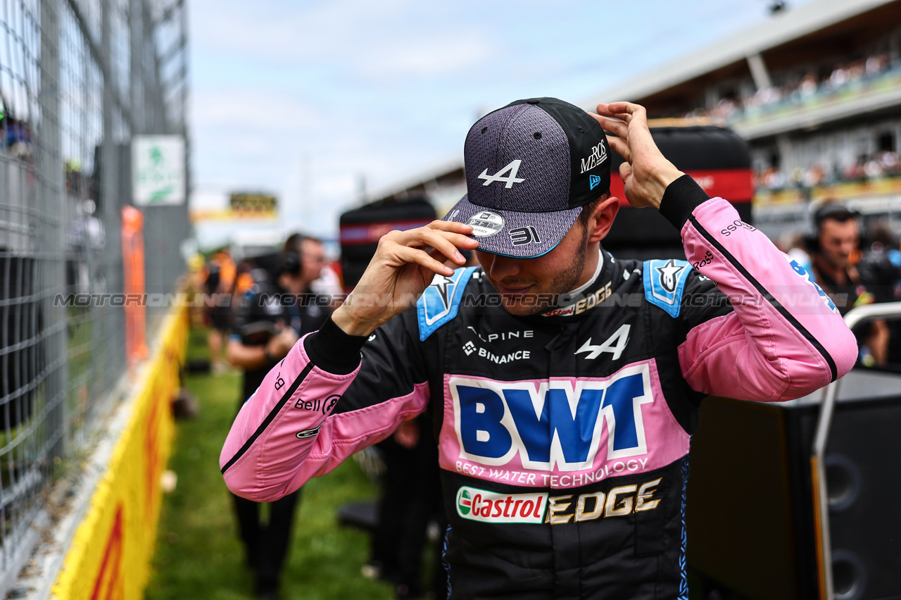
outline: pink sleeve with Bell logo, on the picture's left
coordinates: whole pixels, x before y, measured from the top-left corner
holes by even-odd
[[[420,384],[378,405],[332,414],[359,364],[346,375],[315,366],[305,350],[307,337],[269,371],[232,423],[219,466],[237,495],[270,502],[290,494],[425,410],[428,389]]]

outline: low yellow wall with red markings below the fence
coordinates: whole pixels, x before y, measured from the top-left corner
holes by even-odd
[[[77,527],[53,586],[57,600],[140,600],[150,576],[161,490],[171,450],[171,402],[187,349],[187,311],[167,317],[162,341],[130,401],[131,414]]]

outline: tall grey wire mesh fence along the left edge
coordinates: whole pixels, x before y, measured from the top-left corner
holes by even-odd
[[[186,48],[184,0],[0,0],[0,597],[118,399],[132,136],[187,137]],[[143,216],[172,291],[187,205]]]

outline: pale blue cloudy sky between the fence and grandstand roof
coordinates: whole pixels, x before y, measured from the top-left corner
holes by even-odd
[[[278,228],[332,237],[361,178],[374,193],[460,157],[481,114],[581,104],[769,19],[769,4],[190,0],[196,189],[273,193]]]

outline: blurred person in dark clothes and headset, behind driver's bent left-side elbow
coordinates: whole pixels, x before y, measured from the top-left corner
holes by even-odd
[[[240,299],[229,340],[229,362],[244,371],[241,405],[253,395],[269,369],[283,359],[295,342],[317,331],[328,315],[328,298],[309,290],[315,278],[296,251],[278,259],[273,274],[263,268],[251,271],[254,285]],[[269,503],[267,520],[261,520],[260,504],[232,495],[247,562],[254,571],[259,598],[278,598],[278,582],[291,539],[300,490]]]

